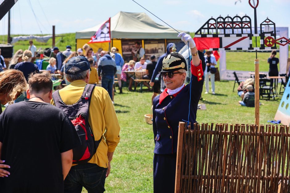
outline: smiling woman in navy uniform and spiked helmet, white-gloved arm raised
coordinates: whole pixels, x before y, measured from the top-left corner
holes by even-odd
[[[191,94],[190,84],[184,84],[187,76],[186,61],[172,48],[172,52],[163,59],[160,72],[166,88],[153,100],[153,185],[154,192],[158,193],[174,192],[178,124],[179,121],[188,120],[190,95],[189,121],[192,124],[196,122],[197,105],[204,82],[201,60],[193,39],[184,32],[178,37],[185,44],[189,42],[191,48]]]

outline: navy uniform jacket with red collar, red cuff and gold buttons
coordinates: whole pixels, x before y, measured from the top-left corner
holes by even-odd
[[[202,65],[191,64],[191,124],[196,122],[198,101],[201,97],[204,76]],[[188,120],[188,105],[190,84],[174,95],[169,95],[167,89],[153,100],[153,133],[155,154],[173,154],[177,151],[179,121]]]

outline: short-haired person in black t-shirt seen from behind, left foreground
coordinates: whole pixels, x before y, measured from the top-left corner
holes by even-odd
[[[50,104],[50,74],[34,74],[28,84],[29,101],[0,115],[0,159],[10,166],[8,174],[0,170],[0,192],[63,193],[80,139],[64,112]]]

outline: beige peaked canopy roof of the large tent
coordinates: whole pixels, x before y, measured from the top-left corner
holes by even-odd
[[[76,32],[76,39],[91,39],[105,22]],[[175,30],[155,23],[146,13],[123,11],[111,17],[110,30],[111,39],[176,39],[178,35]]]

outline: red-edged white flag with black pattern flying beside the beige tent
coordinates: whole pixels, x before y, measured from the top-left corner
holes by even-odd
[[[104,43],[111,41],[111,18],[109,18],[96,33],[91,37],[89,43]]]

